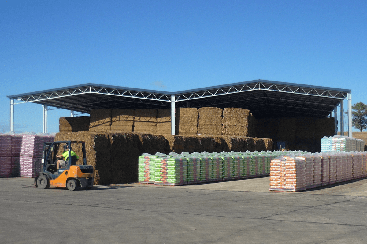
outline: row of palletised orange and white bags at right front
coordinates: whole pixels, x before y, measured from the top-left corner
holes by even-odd
[[[367,152],[286,152],[270,167],[270,191],[303,191],[366,177]]]

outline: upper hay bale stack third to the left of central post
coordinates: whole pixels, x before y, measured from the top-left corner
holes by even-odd
[[[112,109],[111,131],[134,131],[134,109]]]

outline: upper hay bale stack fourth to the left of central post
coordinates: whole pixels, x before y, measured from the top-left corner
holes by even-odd
[[[111,130],[111,109],[93,109],[90,111],[90,131]]]

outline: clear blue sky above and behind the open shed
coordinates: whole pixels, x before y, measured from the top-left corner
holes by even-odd
[[[367,1],[0,4],[0,132],[7,95],[83,83],[181,91],[266,79],[351,89],[352,104],[367,104]],[[48,132],[61,116],[48,112]],[[42,132],[42,119],[41,105],[15,105],[16,132]]]

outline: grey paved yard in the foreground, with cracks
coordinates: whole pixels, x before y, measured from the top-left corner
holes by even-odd
[[[34,188],[0,178],[0,243],[367,243],[367,179],[269,192],[269,177],[179,187]]]

